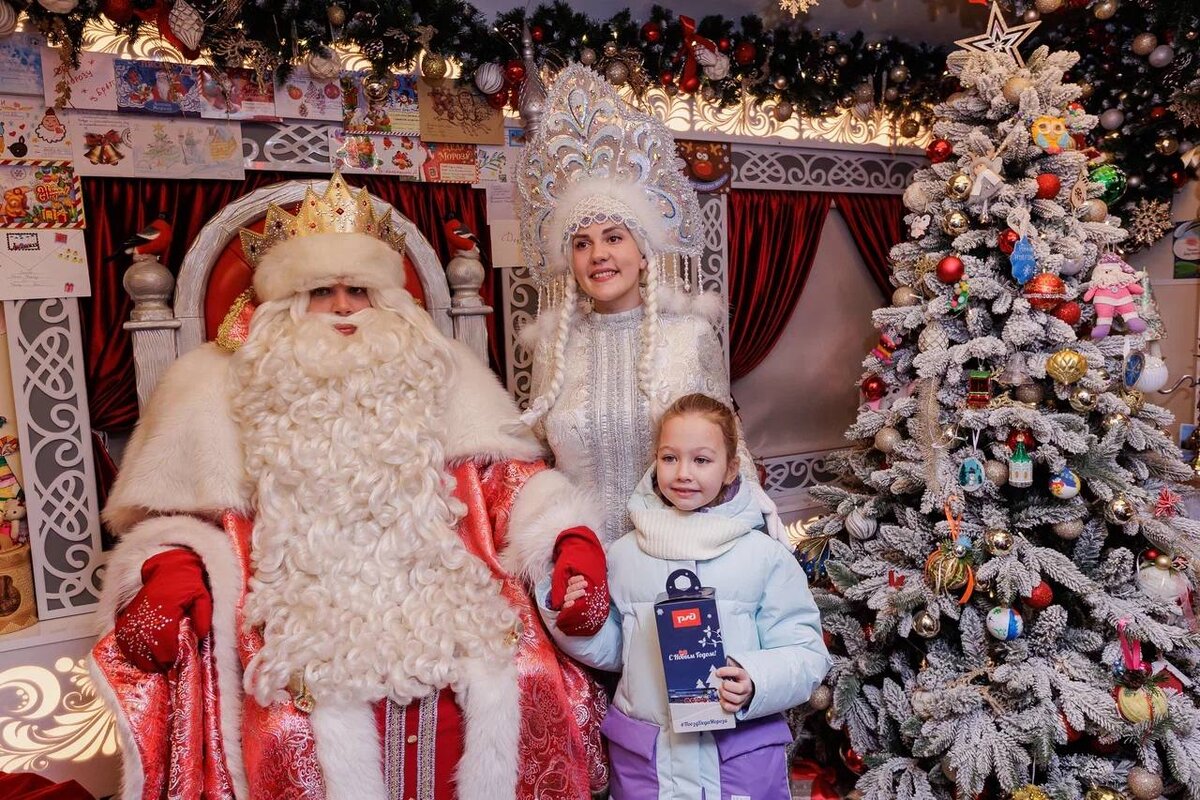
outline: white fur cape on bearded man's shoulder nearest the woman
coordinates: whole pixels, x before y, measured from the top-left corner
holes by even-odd
[[[454,385],[446,392],[445,456],[460,462],[472,458],[535,461],[546,451],[533,432],[520,422],[516,403],[496,373],[458,341],[454,354]]]

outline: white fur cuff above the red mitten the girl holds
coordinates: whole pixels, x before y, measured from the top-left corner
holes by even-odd
[[[512,504],[500,564],[527,585],[535,585],[550,575],[558,535],[576,525],[601,530],[604,513],[599,504],[558,470],[538,473],[526,481]]]

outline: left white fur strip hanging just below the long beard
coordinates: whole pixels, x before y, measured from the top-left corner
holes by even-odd
[[[308,720],[326,800],[388,800],[383,745],[370,703],[318,703]]]

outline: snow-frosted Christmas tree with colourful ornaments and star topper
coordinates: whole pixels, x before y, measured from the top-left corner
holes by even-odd
[[[858,446],[799,542],[835,651],[811,705],[865,800],[1200,798],[1200,524],[1121,173],[1078,55],[989,30],[950,58]]]

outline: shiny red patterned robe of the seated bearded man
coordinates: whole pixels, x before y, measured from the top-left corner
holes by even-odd
[[[326,716],[337,717],[338,727],[330,728],[332,733],[325,735],[342,736],[340,732],[349,730],[350,739],[366,734],[366,740],[377,744],[376,763],[383,774],[386,800],[460,798],[455,784],[458,769],[469,769],[475,759],[516,759],[515,796],[521,800],[583,799],[590,790],[605,786],[607,771],[599,736],[604,693],[578,664],[554,648],[526,587],[505,571],[499,559],[508,541],[514,501],[526,482],[542,469],[540,463],[500,461],[491,464],[467,462],[449,470],[456,481],[455,494],[467,506],[458,535],[488,566],[500,594],[517,610],[523,625],[514,664],[516,685],[511,687],[520,702],[520,724],[511,752],[505,751],[503,744],[496,744],[503,736],[492,736],[487,730],[487,726],[506,721],[487,718],[486,712],[473,715],[470,702],[460,703],[449,688],[407,708],[385,699],[365,712],[320,709],[308,715],[292,703],[259,706],[240,692],[240,674],[220,675],[222,649],[226,652],[235,649],[236,661],[227,658],[224,663],[236,663],[244,669],[262,646],[260,633],[246,632],[242,626],[252,523],[227,512],[221,525],[240,571],[232,609],[236,633],[221,636],[218,608],[214,615],[214,633],[198,645],[194,637],[184,631],[180,661],[169,675],[148,675],[128,663],[118,650],[112,631],[94,650],[103,679],[97,685],[110,691],[109,699],[120,716],[119,729],[126,747],[126,800],[162,796],[332,799],[334,794],[326,790],[329,771],[349,770],[353,764],[337,763],[342,762],[340,758],[324,762],[320,758],[317,740],[322,738],[324,724],[320,720]],[[157,521],[158,528],[167,529],[169,522],[170,518]],[[216,528],[212,533],[220,539]],[[151,545],[169,546],[196,547],[186,536],[172,541],[169,534],[157,536]],[[128,549],[132,553],[127,560],[136,561],[132,567],[137,569],[144,560],[145,546]],[[205,559],[206,566],[209,560]],[[118,548],[113,569],[121,569],[120,561],[121,548]],[[211,572],[210,567],[210,581]],[[214,587],[214,600],[220,606],[218,595]],[[486,686],[480,691],[486,693]],[[506,687],[498,691],[506,691]],[[468,692],[476,693],[474,690]],[[240,718],[224,708],[228,703],[241,704]],[[472,745],[469,734],[476,724],[482,728],[475,732],[476,744]],[[364,732],[364,727],[373,730]],[[241,747],[230,753],[229,747],[235,746],[232,742],[239,736]],[[473,752],[473,746],[478,752]],[[342,777],[353,780],[353,776]],[[245,794],[239,787],[245,787]],[[506,794],[503,787],[493,788],[492,796]]]

